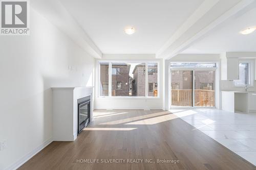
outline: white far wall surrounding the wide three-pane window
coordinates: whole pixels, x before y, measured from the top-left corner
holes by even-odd
[[[159,61],[159,98],[131,98],[131,97],[115,97],[115,98],[102,98],[98,95],[98,62],[95,62],[95,109],[162,109],[163,95],[162,95],[162,60],[156,60],[155,55],[152,54],[108,54],[103,55],[104,61]],[[99,60],[100,61],[100,60]],[[101,60],[102,61],[102,60]]]

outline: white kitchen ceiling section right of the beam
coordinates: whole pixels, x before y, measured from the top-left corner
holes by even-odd
[[[239,33],[241,30],[252,26],[256,26],[255,7],[225,22],[225,25],[210,31],[182,53],[220,54],[223,52],[255,52],[256,31],[248,35]]]

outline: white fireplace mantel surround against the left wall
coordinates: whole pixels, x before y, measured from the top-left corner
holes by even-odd
[[[52,87],[53,140],[74,141],[77,137],[77,100],[91,95],[93,121],[93,87]]]

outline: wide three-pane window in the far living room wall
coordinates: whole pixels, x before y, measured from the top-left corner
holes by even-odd
[[[100,96],[158,96],[157,62],[111,61],[109,63],[99,62],[99,65]],[[110,74],[109,71],[111,71]]]

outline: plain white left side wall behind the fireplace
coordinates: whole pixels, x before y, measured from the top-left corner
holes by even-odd
[[[95,59],[32,8],[30,30],[0,37],[0,169],[51,141],[51,87],[94,84]]]

